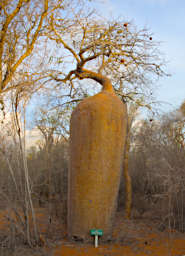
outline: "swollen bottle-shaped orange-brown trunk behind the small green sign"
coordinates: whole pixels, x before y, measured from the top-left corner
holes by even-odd
[[[126,134],[126,109],[103,90],[73,111],[70,130],[69,237],[90,238],[90,229],[111,235]]]

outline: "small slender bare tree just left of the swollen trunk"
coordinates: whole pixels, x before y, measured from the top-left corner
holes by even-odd
[[[62,120],[63,119],[63,120]],[[35,124],[36,128],[41,132],[43,137],[43,146],[40,148],[45,152],[45,181],[44,184],[46,186],[45,192],[43,191],[43,195],[46,195],[48,201],[49,208],[49,221],[52,218],[52,198],[55,197],[56,189],[53,187],[53,157],[52,151],[56,147],[56,145],[61,141],[61,139],[65,139],[67,141],[68,134],[66,133],[66,128],[64,124],[65,113],[58,112],[56,109],[53,111],[48,111],[44,109],[40,109],[37,112]]]

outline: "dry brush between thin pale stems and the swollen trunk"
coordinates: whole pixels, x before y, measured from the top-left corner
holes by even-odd
[[[46,163],[45,148],[29,154],[28,166],[33,188],[35,207],[48,208],[49,218],[60,218],[66,223],[67,216],[67,178],[68,178],[68,146],[58,142],[49,153],[50,165]],[[51,168],[51,180],[48,180]],[[50,208],[50,209],[49,209]],[[49,212],[50,210],[50,212]]]

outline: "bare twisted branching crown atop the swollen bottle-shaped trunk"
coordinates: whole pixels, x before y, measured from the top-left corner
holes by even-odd
[[[138,30],[130,22],[105,22],[89,17],[76,17],[68,24],[66,31],[60,17],[51,16],[48,35],[62,51],[58,67],[48,71],[49,81],[58,88],[68,84],[73,99],[79,97],[78,81],[91,79],[106,91],[113,86],[124,103],[133,100],[139,106],[148,105],[152,82],[165,75],[164,61],[149,31]],[[129,177],[128,173],[125,177]],[[127,210],[130,215],[130,209]]]

